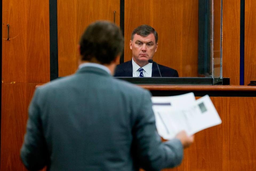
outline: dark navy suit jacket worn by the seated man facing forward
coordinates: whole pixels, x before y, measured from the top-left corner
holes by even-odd
[[[179,74],[176,70],[160,65],[159,70],[161,72],[162,77],[179,77]],[[133,64],[132,61],[127,61],[117,65],[115,69],[116,77],[133,77]],[[153,62],[152,64],[152,77],[160,77],[157,64]]]

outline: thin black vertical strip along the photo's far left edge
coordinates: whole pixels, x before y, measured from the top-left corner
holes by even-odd
[[[0,0],[0,14],[3,14],[2,13],[2,0]],[[1,68],[1,71],[0,71],[0,78],[1,78],[1,85],[0,85],[0,95],[1,95],[1,98],[0,98],[0,132],[1,132],[1,118],[2,118],[2,15],[1,15],[1,19],[0,19],[0,23],[1,23],[1,27],[0,27],[0,33],[1,33],[1,36],[0,36],[0,68]],[[1,145],[1,134],[0,134],[0,145]],[[1,154],[1,146],[0,146],[0,154]],[[1,161],[1,160],[0,160]],[[0,162],[0,165],[1,165],[1,162]]]

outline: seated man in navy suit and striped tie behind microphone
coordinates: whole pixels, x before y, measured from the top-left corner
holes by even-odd
[[[130,49],[133,57],[117,65],[115,70],[116,77],[178,77],[178,72],[172,68],[149,62],[157,52],[158,34],[149,25],[140,25],[131,34]],[[160,73],[161,75],[160,75]]]

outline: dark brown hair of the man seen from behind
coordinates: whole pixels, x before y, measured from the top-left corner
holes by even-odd
[[[86,28],[79,44],[82,61],[96,59],[101,64],[110,64],[122,53],[124,39],[115,24],[98,21]]]

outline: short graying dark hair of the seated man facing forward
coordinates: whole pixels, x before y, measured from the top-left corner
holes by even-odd
[[[155,31],[155,29],[149,25],[140,25],[138,26],[137,28],[135,28],[133,30],[133,32],[131,33],[131,41],[133,41],[133,38],[134,38],[134,35],[137,34],[137,35],[140,35],[140,36],[143,36],[143,37],[146,37],[148,36],[149,34],[153,33],[154,36],[155,36],[155,43],[157,43],[158,41],[158,34],[157,34],[157,31]]]

